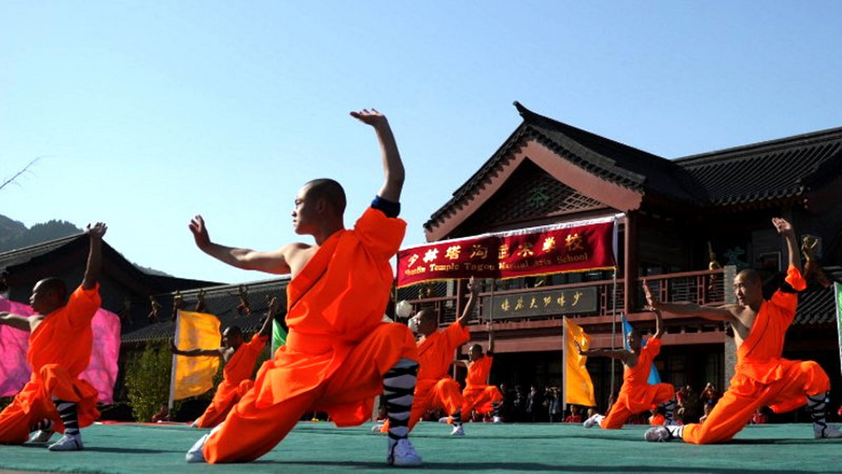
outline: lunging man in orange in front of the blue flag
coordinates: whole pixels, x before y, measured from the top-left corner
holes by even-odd
[[[643,283],[646,286],[646,282]],[[663,318],[661,312],[655,312],[655,334],[642,346],[642,334],[632,330],[626,336],[629,349],[589,349],[579,348],[580,355],[597,355],[620,359],[623,363],[623,385],[620,395],[611,405],[608,415],[595,414],[584,420],[582,425],[591,428],[598,424],[602,429],[620,429],[626,420],[637,413],[647,412],[653,405],[662,405],[666,423],[672,423],[675,410],[675,388],[668,383],[649,384],[649,372],[652,361],[661,351],[663,336]],[[578,346],[578,344],[577,344]]]

